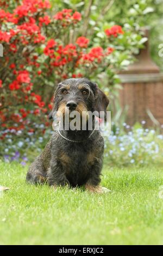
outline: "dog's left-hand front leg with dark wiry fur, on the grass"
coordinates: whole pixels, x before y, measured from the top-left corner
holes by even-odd
[[[66,179],[64,168],[58,160],[52,160],[51,166],[48,170],[48,184],[50,186],[70,186],[69,181]]]

